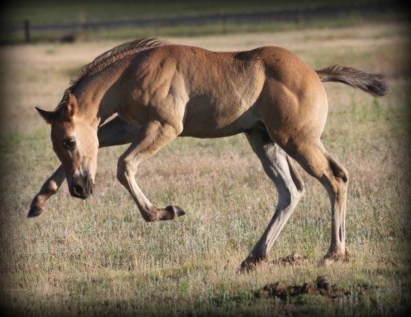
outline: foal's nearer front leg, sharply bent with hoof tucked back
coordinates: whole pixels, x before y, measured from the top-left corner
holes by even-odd
[[[149,121],[139,132],[136,140],[119,158],[117,178],[134,198],[142,218],[147,222],[173,220],[185,212],[178,206],[164,209],[151,204],[136,183],[138,165],[155,154],[163,145],[169,143],[180,133],[177,128],[160,121]]]

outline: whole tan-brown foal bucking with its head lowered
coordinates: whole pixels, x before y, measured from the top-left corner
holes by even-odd
[[[184,211],[151,204],[134,178],[138,165],[176,137],[245,132],[279,198],[269,226],[240,268],[266,257],[303,196],[291,158],[320,181],[331,200],[331,244],[323,263],[343,259],[348,174],[320,141],[327,118],[321,82],[343,82],[375,96],[386,93],[382,75],[340,66],[314,71],[279,47],[214,52],[156,40],[114,47],[83,68],[55,110],[38,109],[51,124],[62,166],[34,198],[29,217],[41,213],[64,176],[72,196],[88,198],[98,148],[131,143],[119,158],[118,180],[146,221],[173,220]],[[118,117],[101,126],[115,113]]]

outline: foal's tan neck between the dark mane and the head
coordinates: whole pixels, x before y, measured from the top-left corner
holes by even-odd
[[[89,119],[93,125],[100,126],[116,113],[119,101],[116,86],[125,67],[125,63],[110,65],[84,78],[75,89],[82,117]]]

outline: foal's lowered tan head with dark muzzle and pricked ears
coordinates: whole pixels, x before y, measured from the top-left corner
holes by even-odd
[[[78,115],[77,99],[72,93],[68,93],[66,102],[54,111],[36,109],[51,124],[53,150],[66,172],[71,196],[88,198],[97,168],[97,128]]]

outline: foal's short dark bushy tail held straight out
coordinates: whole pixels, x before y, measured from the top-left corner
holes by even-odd
[[[379,73],[365,73],[352,67],[332,65],[316,71],[321,82],[342,82],[381,97],[386,95],[388,87],[384,75]]]

